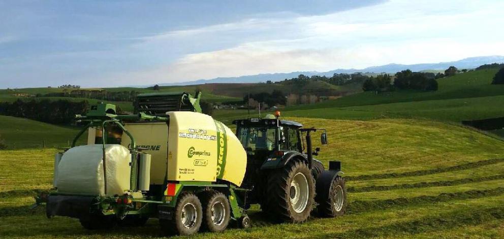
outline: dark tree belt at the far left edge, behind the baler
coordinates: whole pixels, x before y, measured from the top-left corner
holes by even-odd
[[[35,119],[51,124],[71,123],[76,114],[83,114],[89,109],[89,103],[68,100],[31,100],[18,99],[14,102],[0,102],[0,114]]]

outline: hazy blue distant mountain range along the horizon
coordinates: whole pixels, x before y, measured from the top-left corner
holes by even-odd
[[[424,63],[424,64],[413,64],[413,65],[403,65],[403,64],[388,64],[381,66],[371,66],[364,69],[336,69],[326,72],[318,71],[295,71],[290,73],[270,73],[270,74],[257,74],[257,75],[243,75],[237,77],[217,77],[213,79],[200,79],[198,81],[190,82],[179,82],[179,83],[164,83],[159,84],[160,86],[187,86],[187,85],[201,85],[210,83],[260,83],[266,81],[282,81],[283,79],[290,79],[297,77],[300,74],[307,76],[312,75],[325,75],[332,76],[334,73],[355,73],[355,72],[372,72],[372,73],[396,73],[401,70],[410,69],[413,71],[422,70],[445,70],[450,66],[455,66],[459,69],[472,69],[480,65],[490,64],[490,63],[504,63],[504,56],[481,56],[481,57],[470,57],[458,61],[450,62],[439,62],[439,63]]]

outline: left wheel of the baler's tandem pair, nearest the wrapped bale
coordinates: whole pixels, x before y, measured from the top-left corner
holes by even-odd
[[[160,219],[161,230],[166,234],[192,235],[198,232],[203,209],[198,197],[191,192],[178,197],[171,220]]]

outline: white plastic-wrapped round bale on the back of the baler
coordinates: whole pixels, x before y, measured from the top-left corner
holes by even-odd
[[[130,189],[131,154],[118,144],[105,145],[107,192],[103,177],[101,144],[69,149],[58,164],[58,192],[79,195],[115,195]]]

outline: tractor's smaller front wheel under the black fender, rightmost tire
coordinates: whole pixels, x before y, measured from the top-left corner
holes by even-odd
[[[340,176],[336,178],[331,183],[331,188],[329,189],[329,198],[323,202],[318,202],[319,206],[317,211],[321,217],[338,217],[345,213],[346,206],[346,187],[345,180]]]

